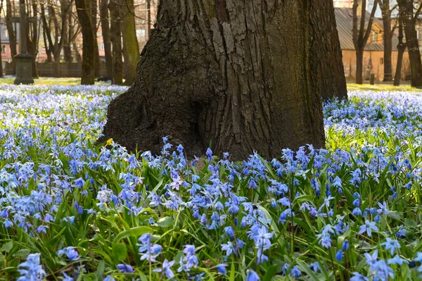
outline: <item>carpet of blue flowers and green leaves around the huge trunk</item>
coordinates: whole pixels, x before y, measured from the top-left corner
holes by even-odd
[[[326,149],[233,162],[211,149],[188,159],[166,137],[160,155],[94,146],[124,89],[0,88],[9,279],[422,275],[418,94],[354,92],[324,104]]]

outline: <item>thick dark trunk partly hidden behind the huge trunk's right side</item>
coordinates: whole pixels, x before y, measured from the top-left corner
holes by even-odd
[[[313,0],[312,19],[312,88],[319,89],[323,99],[347,99],[345,70],[335,25],[332,0]]]

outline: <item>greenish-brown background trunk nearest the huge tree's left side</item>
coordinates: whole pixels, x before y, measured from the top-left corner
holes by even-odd
[[[124,11],[122,22],[123,55],[124,55],[124,84],[132,85],[136,77],[136,63],[139,61],[139,46],[136,38],[134,17],[134,0],[123,0]]]

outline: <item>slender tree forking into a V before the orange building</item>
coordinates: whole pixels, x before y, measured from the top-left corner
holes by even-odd
[[[361,6],[361,17],[358,25],[357,9],[359,8],[359,2]],[[354,0],[353,2],[353,44],[356,51],[356,84],[362,84],[363,68],[364,68],[364,49],[366,42],[368,42],[369,35],[371,35],[373,17],[375,16],[376,8],[378,6],[378,0],[373,0],[373,7],[371,15],[369,15],[368,24],[366,25],[366,0]]]

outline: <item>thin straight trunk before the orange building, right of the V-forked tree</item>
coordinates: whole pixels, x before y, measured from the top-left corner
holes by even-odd
[[[390,3],[388,1],[388,3]],[[386,9],[386,11],[385,11]],[[390,6],[381,9],[383,11],[383,25],[384,25],[384,82],[392,81],[392,31],[391,31],[391,17]]]

